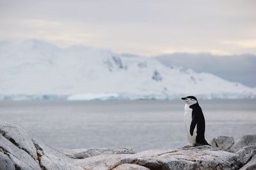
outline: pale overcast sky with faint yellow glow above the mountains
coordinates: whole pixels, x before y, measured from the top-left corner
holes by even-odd
[[[0,41],[116,53],[256,54],[256,1],[0,0]]]

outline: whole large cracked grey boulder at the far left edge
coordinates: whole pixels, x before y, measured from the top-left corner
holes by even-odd
[[[24,129],[1,122],[0,133],[1,166],[8,164],[6,169],[41,169],[35,145]]]

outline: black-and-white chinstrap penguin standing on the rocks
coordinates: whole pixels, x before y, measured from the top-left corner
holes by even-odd
[[[181,99],[186,102],[184,107],[184,122],[189,143],[192,146],[209,145],[204,137],[204,114],[196,97],[188,96],[182,97]]]

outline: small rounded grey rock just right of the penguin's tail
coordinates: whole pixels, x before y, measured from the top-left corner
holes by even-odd
[[[220,148],[221,150],[228,150],[235,143],[234,138],[228,136],[218,136],[213,138],[211,141],[211,146],[214,148]]]

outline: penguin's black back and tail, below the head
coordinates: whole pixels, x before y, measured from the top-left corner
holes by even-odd
[[[198,145],[209,145],[205,140],[205,119],[204,114],[198,103],[189,106],[192,109],[192,122],[191,124],[196,124],[196,144]],[[195,129],[195,128],[194,128]],[[190,129],[194,131],[194,129]]]

